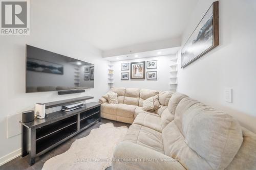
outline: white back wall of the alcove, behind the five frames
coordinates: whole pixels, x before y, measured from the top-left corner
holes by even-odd
[[[148,58],[139,58],[134,60],[124,60],[124,61],[115,61],[112,62],[114,65],[114,87],[125,87],[125,88],[146,88],[154,90],[169,90],[169,70],[170,70],[170,58],[174,58],[176,55],[169,56],[159,56],[159,57],[148,57]],[[129,70],[121,71],[121,63],[131,63],[139,61],[151,61],[157,60],[156,69],[146,69],[145,66],[145,80],[121,80],[121,72],[130,72],[131,76],[131,65]],[[146,80],[146,71],[157,71],[157,80]]]

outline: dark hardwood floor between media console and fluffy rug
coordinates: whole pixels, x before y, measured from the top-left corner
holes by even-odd
[[[0,166],[0,170],[41,170],[42,166],[44,165],[44,163],[59,154],[62,154],[64,152],[66,152],[71,144],[79,138],[85,137],[87,135],[90,134],[91,130],[94,128],[99,128],[99,126],[101,124],[105,124],[105,123],[113,123],[115,127],[120,127],[120,126],[127,126],[129,127],[130,124],[125,124],[125,123],[121,123],[121,122],[116,122],[114,120],[109,120],[109,119],[101,119],[101,123],[95,123],[93,126],[91,126],[90,128],[82,131],[81,133],[77,134],[76,136],[70,138],[69,140],[67,140],[66,142],[63,142],[62,144],[58,145],[58,147],[54,148],[53,150],[39,156],[36,157],[35,160],[35,164],[33,166],[30,166],[28,163],[28,156],[22,158],[21,156],[11,160],[10,162],[7,162],[6,164]],[[108,168],[108,170],[110,170],[111,168]],[[72,169],[75,170],[75,169]]]

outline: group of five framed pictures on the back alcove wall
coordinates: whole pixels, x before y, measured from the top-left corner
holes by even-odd
[[[157,80],[157,60],[121,63],[121,80]]]

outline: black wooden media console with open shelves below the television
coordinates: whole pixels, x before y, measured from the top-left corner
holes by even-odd
[[[73,102],[84,101],[90,96],[71,99]],[[90,97],[92,99],[92,97]],[[69,100],[51,102],[46,104],[51,106],[61,106],[72,103]],[[35,157],[48,152],[58,144],[68,140],[82,130],[87,129],[96,122],[100,122],[100,103],[91,102],[84,107],[69,112],[56,111],[48,114],[49,117],[37,119],[33,122],[22,123],[22,157],[30,156],[30,165],[35,163]]]

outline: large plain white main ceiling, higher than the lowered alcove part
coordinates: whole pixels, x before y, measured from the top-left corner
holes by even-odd
[[[180,37],[198,0],[64,0],[69,27],[102,51]],[[70,9],[72,8],[72,9]],[[75,12],[73,12],[75,10]],[[61,14],[59,15],[61,17]],[[61,20],[58,19],[61,25]]]

